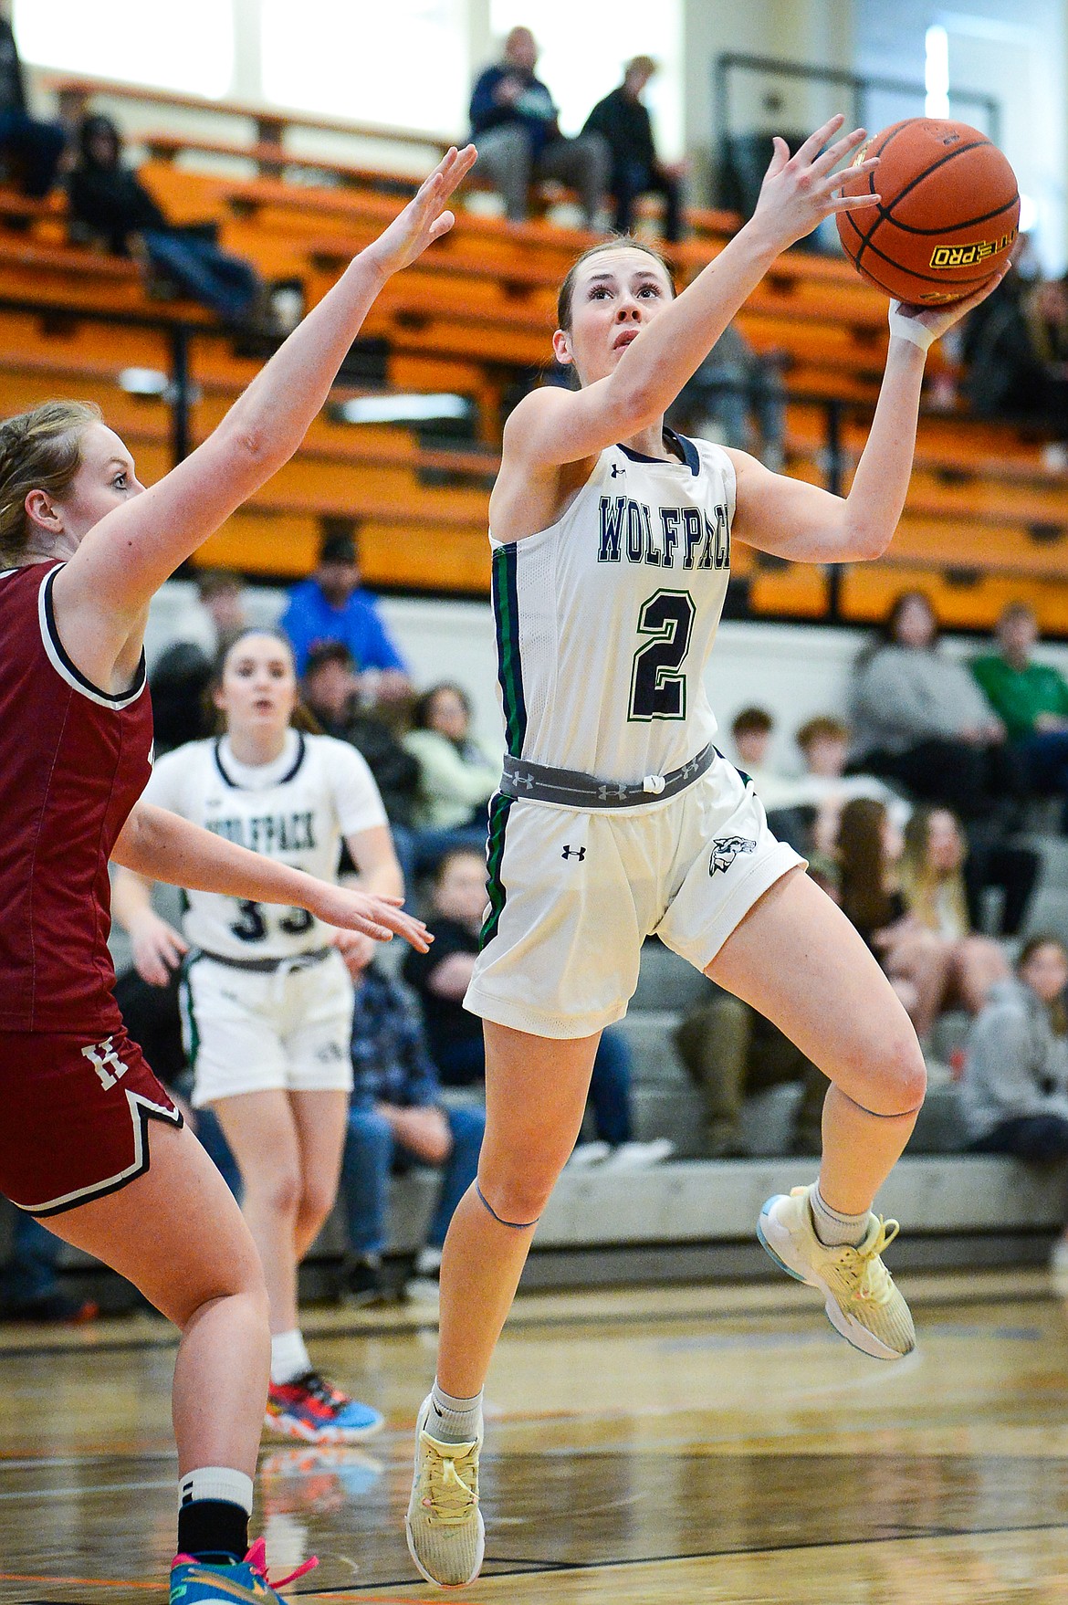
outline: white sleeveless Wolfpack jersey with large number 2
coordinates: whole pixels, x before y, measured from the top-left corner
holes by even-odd
[[[515,758],[605,780],[664,775],[715,733],[704,668],[726,595],[734,467],[608,446],[564,515],[492,541],[497,664]]]

